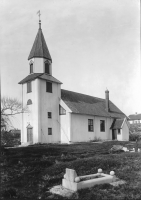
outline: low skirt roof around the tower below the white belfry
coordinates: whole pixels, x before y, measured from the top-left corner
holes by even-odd
[[[50,75],[44,74],[44,73],[33,73],[33,74],[30,74],[27,77],[25,77],[23,80],[21,80],[19,82],[19,84],[27,83],[28,81],[32,81],[32,80],[34,80],[36,78],[47,80],[47,81],[50,81],[50,82],[55,82],[55,83],[62,84],[59,80],[57,80],[53,76],[50,76]]]

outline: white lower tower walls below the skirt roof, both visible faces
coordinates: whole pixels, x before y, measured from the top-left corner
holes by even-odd
[[[29,113],[23,114],[22,142],[27,142],[27,126],[33,127],[33,143],[60,142],[60,84],[52,83],[53,93],[46,92],[46,81],[35,79],[32,81],[32,92],[27,93],[27,83],[23,84],[23,104],[28,99],[32,100],[29,105]],[[48,112],[52,112],[52,118],[48,118]],[[52,128],[52,135],[48,135],[48,128]]]

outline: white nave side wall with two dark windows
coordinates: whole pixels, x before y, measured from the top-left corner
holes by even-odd
[[[88,119],[94,121],[94,131],[88,131]],[[100,131],[100,120],[105,120],[105,132]],[[102,140],[112,139],[112,133],[110,130],[112,118],[97,117],[90,115],[71,114],[71,141],[81,142],[93,140],[95,137]]]

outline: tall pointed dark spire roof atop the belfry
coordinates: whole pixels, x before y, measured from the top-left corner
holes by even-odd
[[[36,35],[34,44],[28,56],[28,60],[31,58],[47,58],[52,61],[42,29],[39,27],[38,33]]]

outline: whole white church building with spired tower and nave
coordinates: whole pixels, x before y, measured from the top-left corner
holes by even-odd
[[[21,143],[73,143],[94,140],[129,140],[126,115],[109,100],[61,89],[52,75],[52,58],[41,21],[29,57],[29,75],[22,85]]]

